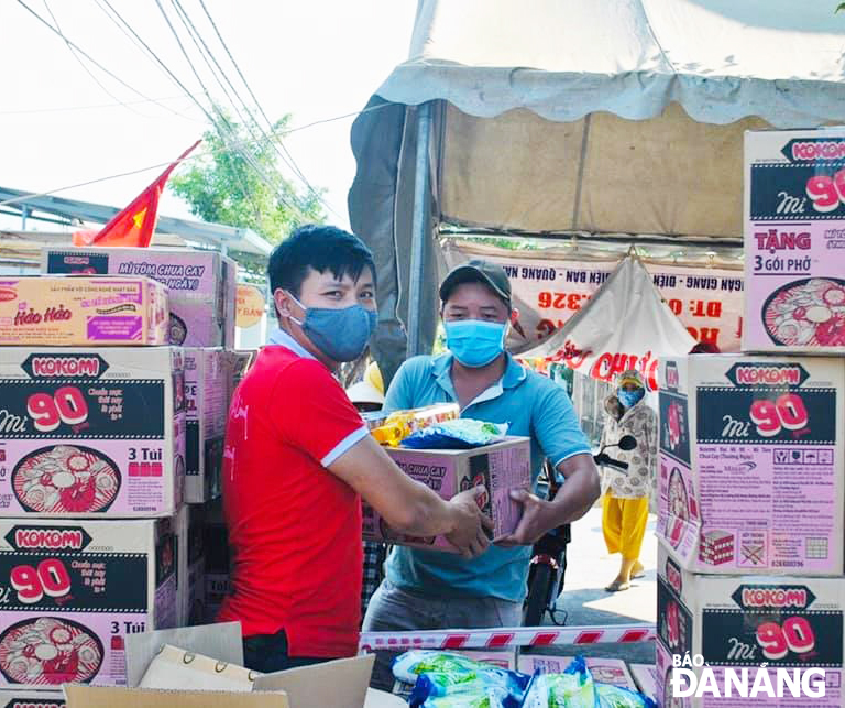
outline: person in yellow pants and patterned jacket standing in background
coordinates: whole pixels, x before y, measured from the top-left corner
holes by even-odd
[[[648,502],[657,472],[657,414],[645,401],[646,388],[637,371],[619,374],[616,391],[604,404],[607,421],[602,445],[613,445],[624,435],[633,435],[637,447],[625,453],[618,448],[611,456],[628,464],[627,470],[605,467],[602,470],[602,531],[608,553],[621,553],[622,565],[605,588],[619,592],[639,577],[643,564],[639,552],[648,523]]]

